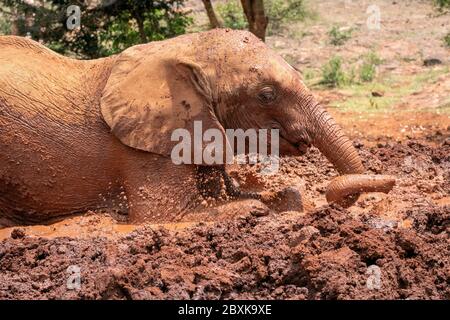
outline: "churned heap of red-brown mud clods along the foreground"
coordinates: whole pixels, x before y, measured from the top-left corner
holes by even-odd
[[[0,298],[449,299],[450,207],[408,212],[413,229],[326,206],[117,240],[21,235],[1,245]]]

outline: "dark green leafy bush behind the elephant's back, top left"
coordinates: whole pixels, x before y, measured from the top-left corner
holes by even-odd
[[[0,7],[15,12],[19,35],[28,35],[51,49],[81,58],[117,53],[138,43],[185,33],[192,23],[180,10],[184,0],[0,0]],[[67,8],[81,10],[81,26],[69,30]],[[89,5],[90,4],[90,5]],[[0,21],[0,31],[2,23]]]

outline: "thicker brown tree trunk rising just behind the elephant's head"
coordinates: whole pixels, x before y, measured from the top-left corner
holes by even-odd
[[[241,3],[247,17],[249,30],[262,41],[265,41],[269,18],[266,17],[264,12],[263,0],[241,0]]]

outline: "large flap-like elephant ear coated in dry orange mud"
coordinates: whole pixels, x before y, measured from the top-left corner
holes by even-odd
[[[130,147],[164,156],[170,156],[179,143],[171,141],[176,129],[187,130],[194,147],[194,122],[198,129],[198,121],[203,131],[218,129],[226,141],[202,68],[191,61],[165,58],[158,50],[149,52],[145,46],[132,47],[117,57],[103,90],[101,112],[112,133]],[[200,146],[203,152],[203,139]]]

